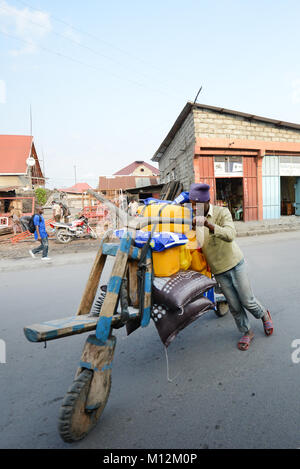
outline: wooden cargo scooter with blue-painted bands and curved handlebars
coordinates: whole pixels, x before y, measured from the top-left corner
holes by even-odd
[[[101,194],[88,192],[120,219],[126,228],[125,234],[118,242],[112,232],[101,240],[76,316],[24,328],[30,342],[47,342],[95,331],[86,340],[74,381],[60,409],[59,433],[68,443],[81,440],[91,431],[107,403],[116,347],[113,329],[124,325],[137,329],[150,322],[152,253],[147,245],[143,249],[134,246],[136,230],[157,223],[191,223],[191,220],[177,218],[130,217]],[[107,256],[114,256],[115,261],[99,317],[95,317],[91,310]]]

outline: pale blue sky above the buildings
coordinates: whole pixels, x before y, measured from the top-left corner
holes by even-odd
[[[0,0],[0,133],[48,187],[151,162],[200,103],[300,122],[299,0]]]

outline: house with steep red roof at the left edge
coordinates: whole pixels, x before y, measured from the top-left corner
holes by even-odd
[[[44,185],[33,137],[0,135],[0,192]]]

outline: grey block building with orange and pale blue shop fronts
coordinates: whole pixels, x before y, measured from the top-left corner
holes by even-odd
[[[300,124],[188,102],[152,160],[162,183],[208,183],[236,220],[300,215]]]

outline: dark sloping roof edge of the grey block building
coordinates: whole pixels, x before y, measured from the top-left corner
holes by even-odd
[[[285,122],[281,120],[276,120],[276,119],[269,119],[267,117],[262,117],[262,116],[256,116],[254,114],[247,114],[245,112],[239,112],[239,111],[233,111],[231,109],[225,109],[223,107],[216,107],[216,106],[209,106],[208,104],[200,104],[200,103],[192,103],[192,102],[187,102],[186,105],[184,106],[183,110],[177,117],[176,121],[174,122],[171,130],[169,131],[168,135],[164,139],[164,141],[161,143],[159,146],[158,150],[154,153],[153,157],[151,158],[152,161],[159,161],[161,156],[164,154],[168,146],[170,145],[171,141],[175,137],[176,133],[180,129],[182,123],[184,120],[187,118],[189,113],[192,111],[192,109],[207,109],[209,111],[214,111],[218,112],[220,114],[229,114],[233,116],[239,116],[239,117],[244,117],[246,119],[250,119],[253,121],[258,121],[258,122],[266,122],[268,124],[274,124],[279,127],[286,127],[286,128],[291,128],[295,130],[300,130],[300,124],[294,124],[292,122]]]

